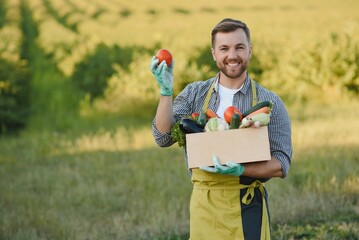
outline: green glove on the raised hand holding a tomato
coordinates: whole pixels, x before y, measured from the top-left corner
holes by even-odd
[[[156,57],[151,61],[151,72],[155,76],[158,84],[160,85],[160,93],[162,96],[171,96],[173,94],[173,66],[172,60],[171,66],[167,66],[166,61],[162,61],[158,65],[159,60]]]

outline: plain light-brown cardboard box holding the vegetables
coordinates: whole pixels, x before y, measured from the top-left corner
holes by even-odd
[[[271,158],[267,126],[187,134],[186,145],[189,168],[213,166],[213,155],[222,164]]]

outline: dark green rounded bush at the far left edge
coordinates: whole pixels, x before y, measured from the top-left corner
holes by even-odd
[[[29,77],[26,66],[0,59],[0,134],[26,125],[30,113]]]

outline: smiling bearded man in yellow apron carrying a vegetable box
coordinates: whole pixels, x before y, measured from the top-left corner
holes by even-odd
[[[213,156],[214,167],[191,171],[190,203],[191,240],[270,239],[268,196],[263,183],[272,177],[284,178],[288,173],[292,157],[289,116],[280,97],[255,83],[247,73],[252,46],[245,23],[229,18],[219,22],[212,30],[211,51],[218,75],[188,84],[174,102],[174,64],[158,65],[158,60],[152,59],[151,71],[161,93],[153,134],[159,146],[167,147],[174,143],[170,130],[175,121],[200,112],[203,105],[207,104],[205,109],[210,108],[223,118],[230,105],[244,112],[257,101],[272,101],[268,125],[271,159],[220,165]],[[209,102],[205,101],[207,95]]]

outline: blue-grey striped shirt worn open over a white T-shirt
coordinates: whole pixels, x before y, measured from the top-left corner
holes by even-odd
[[[175,98],[173,103],[173,117],[176,121],[183,116],[190,116],[193,112],[201,112],[207,92],[215,81],[212,95],[208,104],[208,108],[214,112],[217,111],[220,97],[218,93],[218,77],[210,78],[206,81],[196,81],[188,84],[183,91]],[[292,158],[292,140],[291,126],[288,112],[281,98],[256,83],[257,100],[272,101],[273,108],[271,111],[271,120],[268,125],[269,145],[271,155],[277,158],[282,166],[283,177],[287,176],[291,158]],[[247,74],[247,78],[243,83],[243,87],[234,95],[233,106],[241,112],[252,107],[252,90],[251,79]],[[156,143],[160,147],[169,147],[175,142],[172,140],[170,132],[161,133],[155,125],[155,119],[152,122],[152,131]],[[185,160],[188,164],[187,154],[185,151]]]

